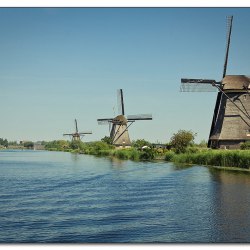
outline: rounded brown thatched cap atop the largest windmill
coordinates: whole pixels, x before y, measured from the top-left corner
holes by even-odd
[[[250,88],[250,77],[227,75],[222,80],[223,90],[246,90]]]

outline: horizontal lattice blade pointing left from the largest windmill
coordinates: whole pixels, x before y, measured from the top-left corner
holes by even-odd
[[[181,79],[180,92],[216,92],[215,85],[220,83],[212,79]]]

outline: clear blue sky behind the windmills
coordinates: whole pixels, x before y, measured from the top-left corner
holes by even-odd
[[[250,74],[249,8],[1,8],[0,138],[69,139],[97,118],[151,113],[132,140],[167,142],[179,129],[208,139],[216,93],[181,93],[181,77],[222,77],[226,16],[234,15],[228,74]]]

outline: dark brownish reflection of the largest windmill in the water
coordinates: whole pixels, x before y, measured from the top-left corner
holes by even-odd
[[[215,240],[250,241],[250,175],[242,172],[210,169],[214,192]]]

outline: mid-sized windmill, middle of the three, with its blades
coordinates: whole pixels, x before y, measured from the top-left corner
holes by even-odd
[[[131,141],[129,138],[128,128],[139,120],[152,120],[151,114],[128,115],[125,117],[124,100],[122,89],[117,91],[118,112],[120,113],[115,118],[97,119],[98,124],[109,124],[110,138],[112,144],[117,147],[130,147]],[[111,126],[112,125],[112,126]]]

